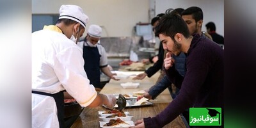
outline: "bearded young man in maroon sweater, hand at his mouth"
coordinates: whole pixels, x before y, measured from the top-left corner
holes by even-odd
[[[168,51],[164,59],[166,76],[180,92],[159,115],[138,120],[134,127],[163,127],[191,107],[223,108],[223,49],[198,34],[191,36],[178,15],[164,16],[156,34]],[[180,52],[187,54],[184,77],[173,67],[172,54],[177,56]]]

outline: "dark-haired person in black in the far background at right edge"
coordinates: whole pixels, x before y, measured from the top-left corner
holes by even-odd
[[[224,37],[216,33],[216,26],[214,22],[208,22],[205,24],[207,33],[209,33],[212,36],[212,40],[216,42],[217,44],[224,45]]]

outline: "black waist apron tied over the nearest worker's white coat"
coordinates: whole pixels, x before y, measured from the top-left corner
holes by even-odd
[[[40,95],[47,95],[50,97],[53,97],[57,106],[58,110],[58,121],[60,124],[60,128],[64,128],[65,122],[64,122],[64,91],[58,92],[58,93],[45,93],[45,92],[38,92],[38,91],[32,91],[32,93],[40,94]]]

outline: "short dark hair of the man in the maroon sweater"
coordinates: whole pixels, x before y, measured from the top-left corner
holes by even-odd
[[[177,33],[181,33],[185,38],[189,38],[189,30],[186,22],[176,14],[164,15],[156,26],[156,36],[159,34],[170,36],[172,40]]]

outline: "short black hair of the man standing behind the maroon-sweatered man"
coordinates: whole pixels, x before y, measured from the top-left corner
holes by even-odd
[[[204,13],[201,8],[197,6],[191,6],[182,12],[182,15],[192,15],[196,22],[204,19]]]

